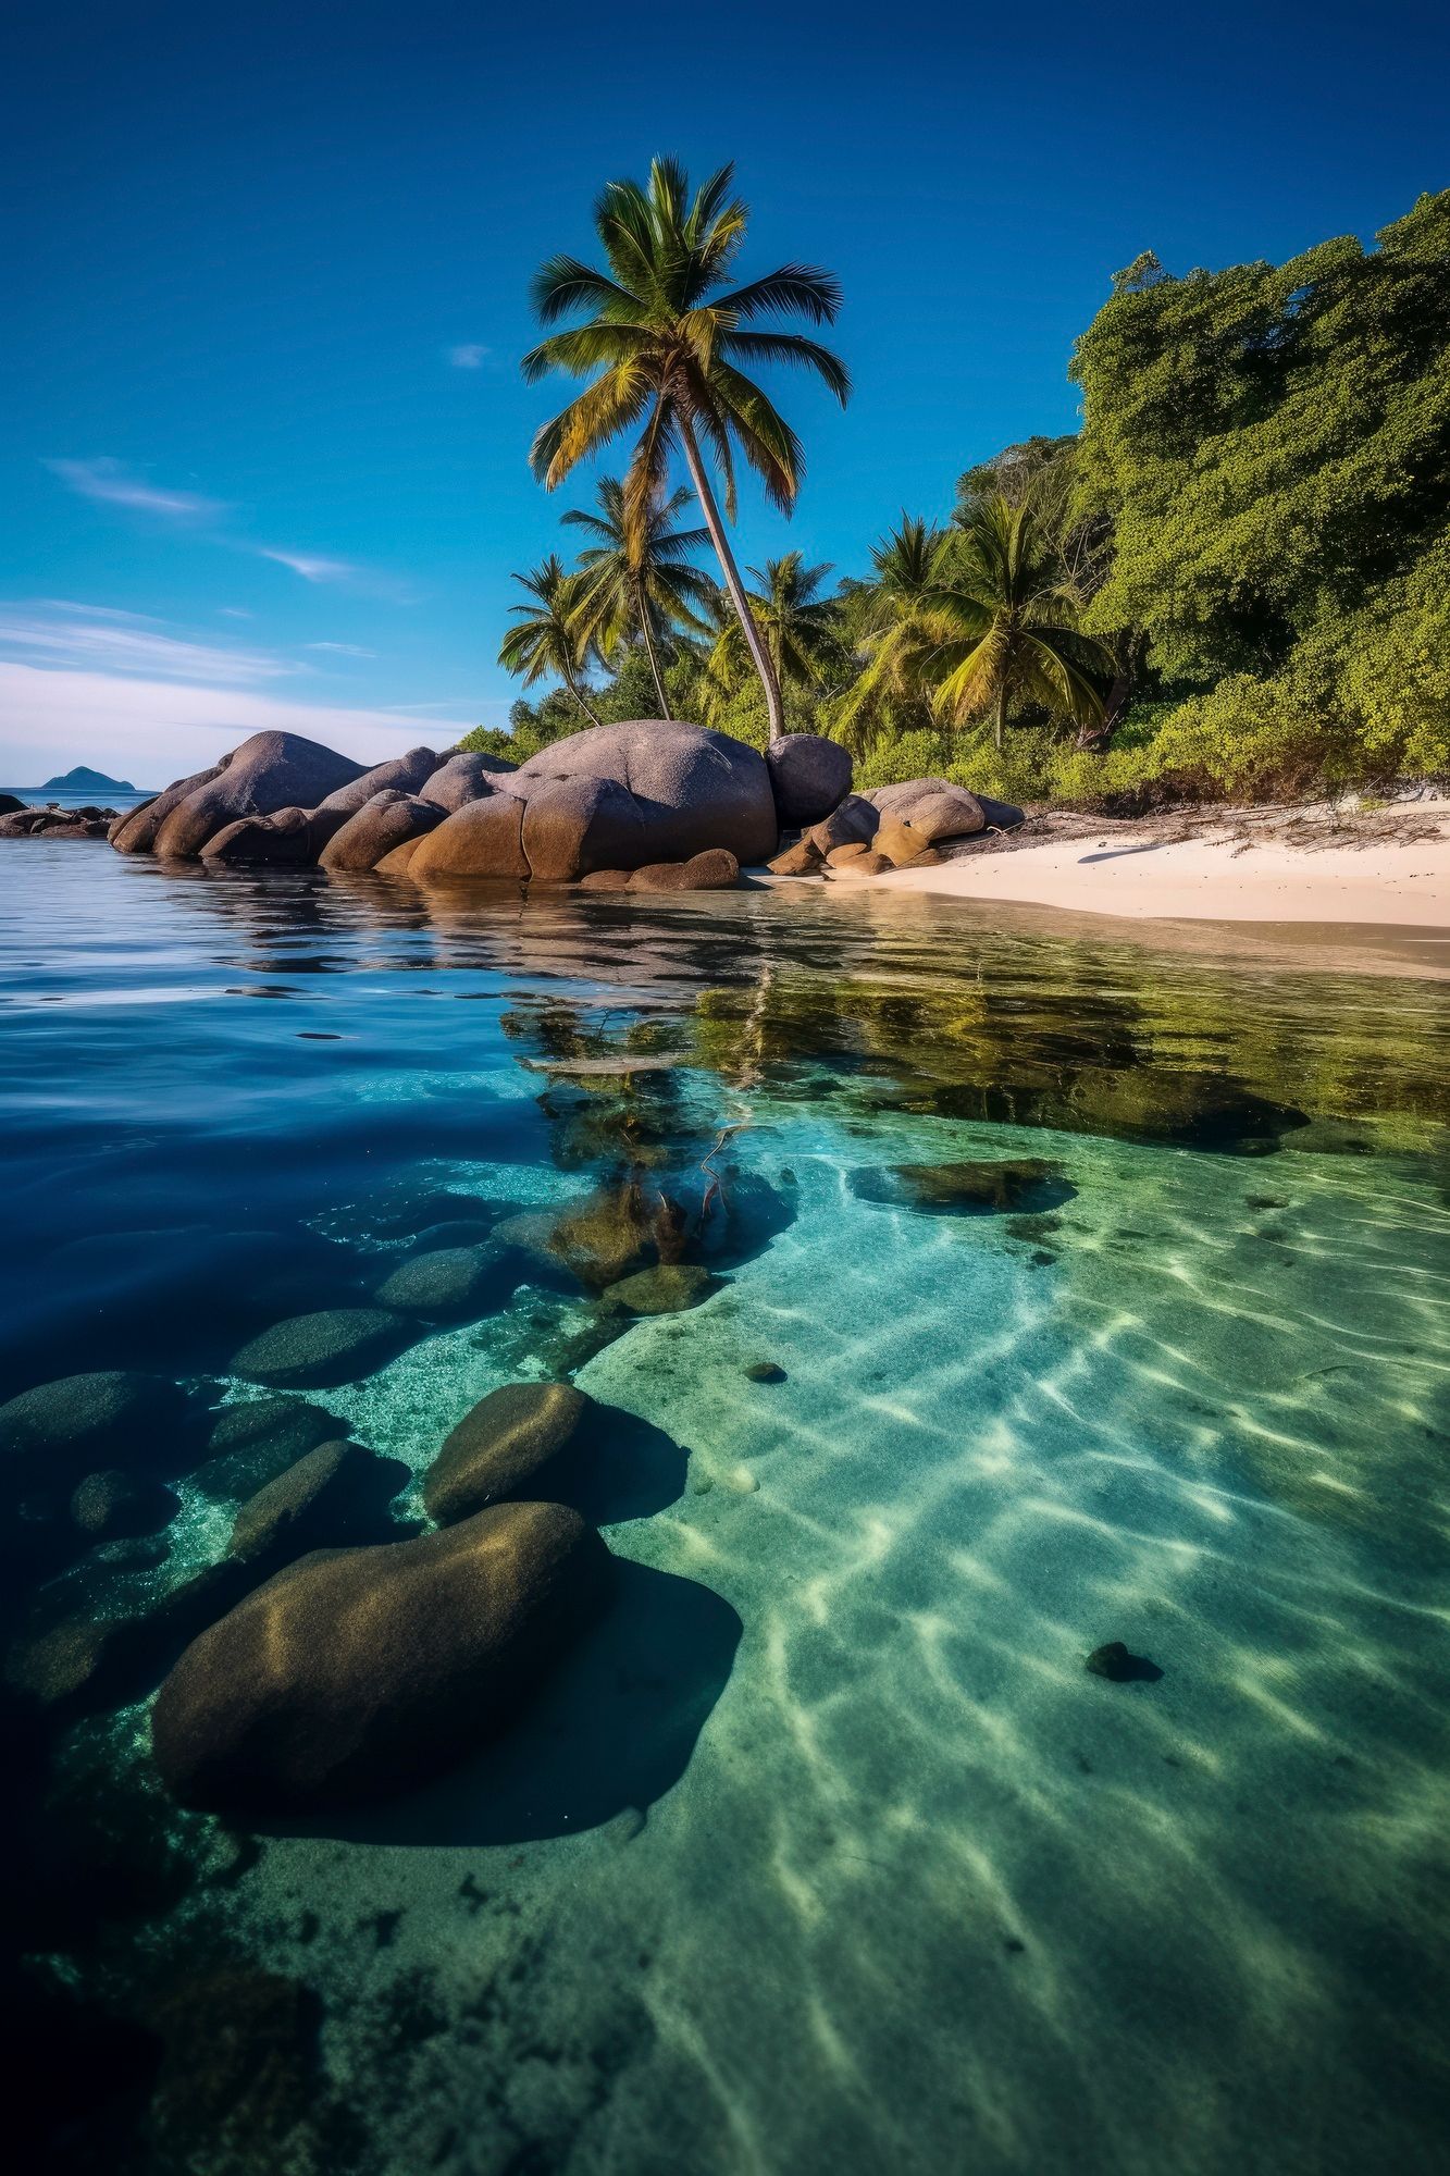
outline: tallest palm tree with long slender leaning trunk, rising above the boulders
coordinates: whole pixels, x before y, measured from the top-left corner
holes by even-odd
[[[810,370],[843,405],[851,381],[840,357],[803,333],[753,331],[755,320],[782,316],[832,324],[840,285],[830,272],[786,263],[764,279],[721,292],[749,222],[745,202],[729,194],[732,185],[734,168],[723,165],[690,196],[688,174],[675,159],[653,161],[649,187],[612,181],[594,205],[607,270],[577,257],[551,257],[533,279],[533,309],[542,324],[577,309],[590,316],[531,348],[523,372],[529,383],[551,370],[592,379],[533,440],[533,472],[549,490],[620,431],[640,429],[625,483],[629,520],[640,522],[664,487],[671,453],[684,455],[766,694],[771,733],[779,733],[786,722],[779,685],[751,620],[725,520],[736,518],[736,448],[784,514],[801,487],[803,455],[790,424],[742,366]],[[701,440],[725,487],[725,520]]]

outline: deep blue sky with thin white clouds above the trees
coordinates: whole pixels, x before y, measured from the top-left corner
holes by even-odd
[[[0,30],[0,777],[139,783],[244,731],[359,755],[501,722],[509,572],[577,490],[527,470],[527,281],[594,189],[736,159],[742,270],[845,285],[843,416],[747,559],[864,568],[899,507],[1076,424],[1113,270],[1287,257],[1450,181],[1443,9],[1039,4],[226,11]]]

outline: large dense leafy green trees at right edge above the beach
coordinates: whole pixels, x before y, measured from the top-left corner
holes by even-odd
[[[1141,627],[1160,762],[1219,788],[1450,762],[1450,191],[1376,250],[1123,281],[1078,342],[1086,614]]]

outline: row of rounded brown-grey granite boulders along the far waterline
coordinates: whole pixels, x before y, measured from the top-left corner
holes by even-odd
[[[764,755],[729,733],[640,718],[553,742],[525,764],[409,749],[370,770],[298,733],[253,733],[209,770],[111,816],[15,809],[0,836],[105,836],[118,853],[309,868],[416,883],[503,879],[697,892],[742,864],[814,875],[901,868],[938,840],[1021,820],[943,779],[851,792],[834,740],[788,733]],[[786,849],[782,853],[782,842]]]

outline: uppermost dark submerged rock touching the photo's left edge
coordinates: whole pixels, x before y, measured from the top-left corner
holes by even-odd
[[[185,1423],[185,1390],[163,1375],[63,1375],[0,1406],[0,1469],[22,1486],[65,1491],[107,1467],[181,1471]]]

